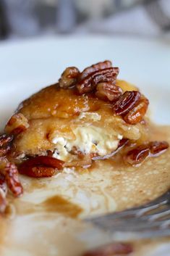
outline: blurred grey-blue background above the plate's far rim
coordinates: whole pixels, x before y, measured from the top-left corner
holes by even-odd
[[[0,0],[0,40],[59,34],[170,35],[170,0]]]

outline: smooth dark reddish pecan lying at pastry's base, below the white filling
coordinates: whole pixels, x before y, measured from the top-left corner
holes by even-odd
[[[61,170],[64,162],[54,157],[40,156],[33,157],[23,162],[19,167],[19,172],[33,178],[51,177],[56,174],[56,170]]]

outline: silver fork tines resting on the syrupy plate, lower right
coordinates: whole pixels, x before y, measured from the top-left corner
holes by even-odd
[[[110,234],[137,239],[170,236],[170,190],[146,205],[86,218],[85,221]]]

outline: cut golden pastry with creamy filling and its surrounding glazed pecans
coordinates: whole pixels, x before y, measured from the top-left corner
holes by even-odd
[[[166,141],[150,141],[148,99],[118,74],[108,60],[82,72],[67,67],[58,83],[20,104],[0,137],[1,212],[7,186],[22,194],[18,170],[43,178],[106,159],[138,166],[168,149]]]

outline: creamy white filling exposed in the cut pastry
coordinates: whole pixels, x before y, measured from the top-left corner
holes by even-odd
[[[78,119],[87,118],[90,120],[100,120],[100,115],[95,113],[84,113],[82,112]],[[64,137],[54,136],[51,138],[51,142],[56,144],[53,157],[60,160],[68,161],[69,152],[72,149],[76,149],[82,154],[96,153],[98,156],[105,156],[111,154],[118,144],[119,140],[122,139],[122,135],[110,133],[105,131],[103,128],[99,128],[91,123],[82,123],[82,125],[74,128],[72,132],[75,134],[75,139],[68,139]]]

